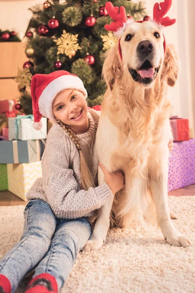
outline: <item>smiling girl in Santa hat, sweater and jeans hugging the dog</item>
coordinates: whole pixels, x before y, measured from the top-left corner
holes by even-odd
[[[23,235],[0,260],[0,293],[15,292],[34,268],[26,293],[57,293],[92,233],[97,209],[124,186],[121,172],[102,165],[105,183],[98,186],[99,116],[88,111],[87,92],[76,75],[36,74],[31,95],[34,127],[41,128],[42,115],[56,123],[47,136],[42,178],[27,194]]]

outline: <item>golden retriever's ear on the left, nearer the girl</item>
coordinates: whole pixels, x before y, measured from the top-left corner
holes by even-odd
[[[105,61],[102,68],[102,76],[110,89],[113,89],[113,85],[116,80],[122,78],[121,61],[119,60],[117,45],[111,47],[105,53]]]

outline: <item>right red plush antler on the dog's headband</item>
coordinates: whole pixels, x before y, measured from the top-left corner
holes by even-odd
[[[169,17],[163,18],[165,14],[169,11],[172,4],[172,0],[164,0],[160,4],[156,3],[153,10],[153,19],[159,22],[161,25],[169,26],[176,22],[176,20],[171,20]],[[161,8],[161,9],[160,9]]]

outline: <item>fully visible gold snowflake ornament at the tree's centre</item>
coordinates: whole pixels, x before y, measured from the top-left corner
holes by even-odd
[[[58,38],[58,40],[54,40],[58,46],[58,54],[65,54],[71,59],[73,51],[81,49],[81,47],[78,45],[77,38],[78,35],[66,33],[66,31],[63,30],[61,37]]]

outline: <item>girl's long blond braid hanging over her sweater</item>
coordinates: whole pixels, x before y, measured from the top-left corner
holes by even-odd
[[[70,136],[70,138],[74,142],[75,146],[78,148],[79,156],[80,156],[80,177],[81,177],[82,188],[85,190],[88,190],[90,187],[95,188],[94,180],[85,162],[85,158],[80,148],[78,138],[76,137],[73,130],[69,126],[65,125],[62,121],[57,119],[57,123],[59,123],[59,125],[62,126],[62,128],[66,131],[66,133]]]

